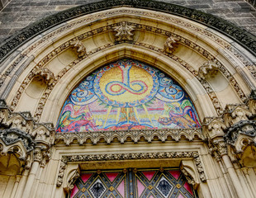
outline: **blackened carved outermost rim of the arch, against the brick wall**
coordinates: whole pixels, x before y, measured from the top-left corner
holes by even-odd
[[[153,0],[103,0],[101,2],[92,2],[83,6],[70,8],[63,12],[58,12],[26,26],[21,31],[18,31],[17,34],[7,38],[7,40],[0,45],[0,63],[27,40],[31,40],[36,35],[40,35],[42,32],[53,26],[57,26],[64,21],[69,21],[75,17],[83,16],[88,13],[99,12],[120,6],[145,8],[186,17],[192,21],[197,21],[205,26],[209,26],[216,31],[220,31],[244,46],[244,48],[249,50],[252,54],[256,55],[256,36],[217,16],[212,16],[211,14],[206,14],[192,8],[182,7],[168,2],[156,2]]]

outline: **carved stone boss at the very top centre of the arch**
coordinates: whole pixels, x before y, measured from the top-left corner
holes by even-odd
[[[116,41],[132,41],[133,31],[135,31],[135,26],[129,25],[128,22],[122,21],[119,26],[114,26],[113,31],[116,31]]]

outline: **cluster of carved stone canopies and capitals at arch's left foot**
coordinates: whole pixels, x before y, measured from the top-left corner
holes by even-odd
[[[50,158],[50,147],[55,141],[55,128],[51,123],[35,123],[31,113],[12,112],[0,100],[0,144],[2,154],[15,152],[26,160],[26,168],[33,161],[44,167]]]

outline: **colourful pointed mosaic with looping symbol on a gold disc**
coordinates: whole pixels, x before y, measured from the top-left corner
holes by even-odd
[[[65,101],[57,132],[201,127],[192,101],[173,79],[122,59],[89,75]]]

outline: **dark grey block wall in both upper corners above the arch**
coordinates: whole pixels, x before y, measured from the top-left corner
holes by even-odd
[[[8,36],[45,16],[98,0],[12,0],[0,12],[0,44]],[[244,0],[162,0],[220,16],[256,35],[256,10],[253,1]],[[3,2],[3,3],[2,3]],[[0,0],[6,5],[8,0]],[[1,4],[2,3],[2,4]]]

